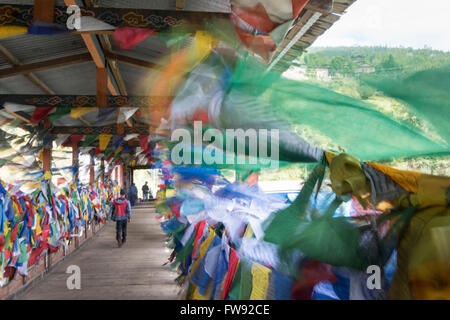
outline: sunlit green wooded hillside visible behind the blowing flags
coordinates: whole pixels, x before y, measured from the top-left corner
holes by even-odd
[[[380,112],[393,119],[407,122],[424,132],[428,137],[439,140],[432,124],[426,123],[413,114],[402,101],[385,96],[365,84],[364,77],[401,77],[418,71],[441,68],[450,65],[450,52],[431,49],[415,50],[412,48],[387,47],[333,47],[310,48],[308,52],[295,60],[293,66],[284,74],[285,77],[301,80],[317,86],[331,89],[374,105]],[[280,112],[283,114],[283,112]],[[285,119],[295,118],[290,110]],[[295,123],[295,121],[293,121]],[[294,126],[294,130],[314,145],[326,149],[342,150],[333,144],[330,137],[324,136],[307,124]],[[415,159],[392,159],[385,164],[405,170],[424,173],[450,175],[450,157]],[[261,180],[302,179],[305,176],[303,165],[290,166],[279,170],[264,171]]]

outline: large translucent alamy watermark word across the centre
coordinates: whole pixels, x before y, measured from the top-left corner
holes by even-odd
[[[194,137],[192,137],[192,135]],[[276,169],[279,166],[279,131],[277,129],[219,129],[203,131],[201,121],[194,121],[193,131],[175,129],[171,152],[176,165],[251,164]],[[209,143],[203,147],[203,143]],[[270,153],[269,153],[270,149]]]

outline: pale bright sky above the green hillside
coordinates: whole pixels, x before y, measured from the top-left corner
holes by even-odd
[[[357,0],[313,46],[450,51],[449,13],[450,0]]]

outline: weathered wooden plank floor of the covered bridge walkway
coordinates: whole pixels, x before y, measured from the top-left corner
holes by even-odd
[[[115,222],[15,299],[176,299],[177,274],[162,266],[170,255],[153,206],[135,207],[127,243],[118,248]],[[70,265],[81,270],[81,289],[67,289]]]

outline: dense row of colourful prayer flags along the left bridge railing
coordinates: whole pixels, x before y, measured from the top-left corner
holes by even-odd
[[[47,181],[31,185],[31,194],[19,190],[33,181],[19,187],[0,181],[0,286],[16,271],[26,276],[45,252],[62,250],[90,225],[104,222],[119,194],[111,180],[89,187]]]

